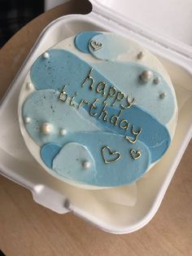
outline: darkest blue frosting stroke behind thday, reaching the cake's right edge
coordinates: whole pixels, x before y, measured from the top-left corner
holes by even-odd
[[[111,121],[103,121],[103,118],[98,118],[99,114],[102,112],[103,106],[96,105],[97,109],[94,113],[98,113],[94,116],[95,119],[100,123],[100,125],[105,127],[105,129],[111,132],[116,132],[120,135],[133,137],[132,126],[134,126],[135,131],[142,128],[142,132],[139,135],[139,140],[146,144],[146,146],[151,150],[151,161],[157,161],[160,157],[164,155],[164,152],[168,149],[171,142],[170,135],[165,126],[162,126],[159,121],[152,117],[149,113],[146,113],[141,108],[133,105],[131,108],[124,109],[120,114],[120,119],[117,126],[111,123]],[[84,108],[89,111],[89,106],[84,105]],[[107,107],[107,118],[111,119],[112,116],[118,116],[120,110],[117,108]],[[129,129],[121,129],[118,124],[120,121],[126,119],[129,121]],[[124,125],[123,125],[124,126]]]

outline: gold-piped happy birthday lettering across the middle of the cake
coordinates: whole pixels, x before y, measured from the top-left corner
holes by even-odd
[[[63,86],[63,90],[59,94],[59,100],[63,103],[68,103],[72,107],[81,108],[83,105],[89,106],[89,115],[91,117],[96,117],[105,122],[110,122],[113,126],[119,126],[120,129],[129,130],[130,123],[127,119],[120,118],[124,109],[131,108],[135,103],[135,99],[129,99],[129,95],[124,95],[122,91],[116,89],[115,86],[108,86],[106,82],[98,82],[96,83],[93,77],[93,68],[90,69],[88,75],[85,77],[84,82],[81,83],[81,90],[85,88],[85,86],[89,86],[89,90],[96,94],[102,95],[102,104],[103,108],[98,110],[98,102],[100,99],[95,98],[92,102],[89,102],[87,99],[81,99],[76,103],[76,97],[78,96],[78,92],[70,98],[66,91],[66,86]],[[111,115],[107,112],[107,106],[115,106],[119,103],[119,113],[115,115]],[[135,143],[138,139],[138,136],[142,132],[142,128],[138,130],[134,130],[134,125],[130,128],[132,136],[125,136],[125,139],[129,143]]]

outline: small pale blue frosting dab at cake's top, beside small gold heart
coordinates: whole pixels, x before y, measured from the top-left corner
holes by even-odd
[[[90,41],[102,44],[99,51],[94,51],[89,43],[90,53],[100,60],[116,60],[119,55],[129,51],[128,42],[114,33],[99,34],[91,38]]]

